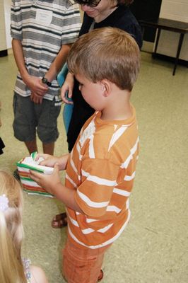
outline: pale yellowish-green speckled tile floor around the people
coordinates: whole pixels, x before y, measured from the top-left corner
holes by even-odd
[[[105,283],[188,282],[188,70],[178,66],[172,76],[172,67],[142,53],[141,74],[131,99],[141,137],[131,221],[105,257]],[[0,74],[0,134],[6,144],[0,167],[13,171],[16,161],[28,155],[13,137],[11,126],[16,79],[13,55],[0,58]],[[57,155],[66,152],[61,115],[59,132]],[[63,210],[63,204],[25,193],[24,198],[23,254],[43,267],[49,283],[63,283],[61,248],[66,229],[50,226],[52,216]]]

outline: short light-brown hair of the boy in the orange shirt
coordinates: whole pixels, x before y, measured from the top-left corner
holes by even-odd
[[[131,35],[118,28],[98,28],[71,47],[68,68],[93,83],[107,79],[131,91],[139,73],[140,50]]]

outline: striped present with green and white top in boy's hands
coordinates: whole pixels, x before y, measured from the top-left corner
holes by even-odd
[[[40,187],[40,185],[38,185],[29,177],[30,170],[43,174],[52,174],[54,170],[52,167],[40,165],[39,163],[43,160],[43,158],[39,158],[39,160],[36,161],[36,156],[37,152],[33,152],[33,154],[31,154],[29,157],[22,158],[16,163],[23,190],[31,195],[44,195],[45,197],[53,197],[53,195],[46,192],[43,187]]]

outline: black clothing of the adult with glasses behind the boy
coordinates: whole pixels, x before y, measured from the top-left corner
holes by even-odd
[[[86,13],[84,13],[83,24],[81,26],[79,36],[88,33],[92,23],[93,18],[90,18]],[[112,28],[120,28],[121,30],[126,31],[132,35],[132,37],[134,37],[139,45],[139,48],[141,48],[141,27],[127,6],[119,6],[110,14],[110,16],[105,18],[105,20],[101,21],[100,23],[95,23],[93,28],[104,28],[108,26]],[[76,80],[72,98],[74,100],[74,108],[67,133],[69,151],[71,151],[73,148],[78,134],[81,131],[81,127],[95,112],[95,110],[91,108],[90,105],[88,105],[88,103],[86,103],[86,101],[83,99],[81,91],[78,89],[78,81]]]

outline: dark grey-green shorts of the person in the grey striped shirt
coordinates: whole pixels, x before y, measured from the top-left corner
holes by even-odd
[[[14,93],[13,96],[13,131],[20,141],[33,141],[36,133],[39,139],[49,144],[57,140],[57,117],[61,106],[54,105],[55,100],[43,99],[42,104],[35,104],[30,96],[23,97]]]

